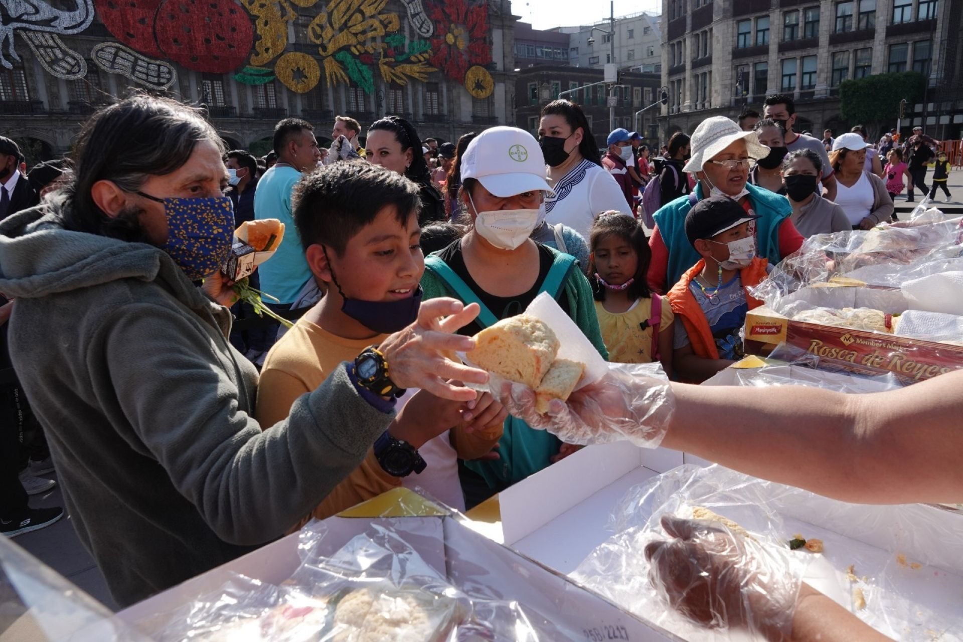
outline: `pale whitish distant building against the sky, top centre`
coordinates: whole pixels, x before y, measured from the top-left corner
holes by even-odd
[[[602,3],[593,7],[601,8]],[[615,59],[612,60],[612,36],[609,20],[592,25],[564,27],[561,31],[569,37],[569,62],[592,69],[604,68],[615,63],[620,69],[633,68],[645,73],[662,71],[663,37],[660,17],[649,13],[633,13],[615,17]],[[595,28],[595,29],[593,29]],[[601,31],[600,31],[601,30]],[[592,39],[591,44],[588,40]]]

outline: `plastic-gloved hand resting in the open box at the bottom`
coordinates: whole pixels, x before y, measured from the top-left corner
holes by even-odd
[[[790,552],[734,534],[727,526],[664,515],[671,537],[645,547],[649,582],[691,622],[747,629],[789,640],[799,588]]]

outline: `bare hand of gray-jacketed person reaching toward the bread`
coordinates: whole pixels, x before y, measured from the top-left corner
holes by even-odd
[[[474,339],[454,333],[474,321],[479,310],[478,303],[464,306],[454,298],[432,298],[422,303],[418,321],[388,336],[378,346],[394,384],[405,389],[420,388],[453,401],[475,399],[476,391],[457,382],[486,383],[488,374],[446,359],[442,352],[467,352],[475,347]]]

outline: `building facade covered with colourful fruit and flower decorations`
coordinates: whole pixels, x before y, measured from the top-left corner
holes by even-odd
[[[326,12],[325,0],[215,0],[192,5],[206,13],[143,16],[134,2],[74,4],[38,17],[63,25],[57,33],[29,21],[0,31],[0,134],[39,158],[65,153],[87,116],[133,90],[205,105],[229,146],[256,153],[287,116],[325,141],[336,114],[364,127],[404,116],[442,141],[514,118],[508,0],[351,3],[345,13]]]

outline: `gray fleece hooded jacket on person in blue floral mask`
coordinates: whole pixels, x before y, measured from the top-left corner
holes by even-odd
[[[58,208],[0,222],[0,292],[67,510],[127,605],[283,534],[392,416],[342,366],[262,432],[228,311],[162,250],[66,231]]]

